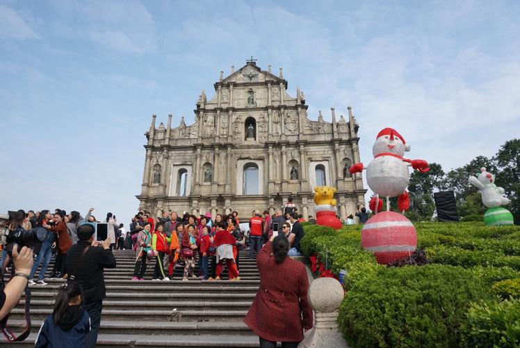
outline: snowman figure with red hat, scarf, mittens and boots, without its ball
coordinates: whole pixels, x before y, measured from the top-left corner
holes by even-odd
[[[404,212],[409,207],[409,196],[405,191],[409,182],[408,167],[425,173],[430,170],[428,162],[423,159],[405,159],[405,151],[409,151],[409,145],[395,129],[384,128],[377,134],[372,147],[374,159],[364,168],[362,163],[350,167],[350,173],[361,173],[366,169],[366,182],[375,193],[371,199],[370,207],[374,212],[382,208],[380,196],[387,198],[387,210],[390,208],[389,198],[398,196],[398,207]]]

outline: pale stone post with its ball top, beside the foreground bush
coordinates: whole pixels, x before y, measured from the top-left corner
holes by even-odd
[[[334,278],[317,278],[312,281],[309,301],[314,308],[314,328],[300,343],[302,347],[348,347],[336,322],[343,296],[343,287]]]

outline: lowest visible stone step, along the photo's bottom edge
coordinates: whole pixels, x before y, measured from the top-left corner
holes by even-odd
[[[34,347],[36,333],[31,333],[24,342],[15,342],[17,347]],[[227,347],[259,347],[259,339],[255,335],[111,335],[100,334],[97,347],[197,347],[197,348],[227,348]],[[277,345],[281,347],[281,345]]]

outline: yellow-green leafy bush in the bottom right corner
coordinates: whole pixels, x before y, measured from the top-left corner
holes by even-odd
[[[519,347],[520,301],[473,303],[462,326],[462,347]]]

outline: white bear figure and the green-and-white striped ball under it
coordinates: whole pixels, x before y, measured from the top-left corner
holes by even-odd
[[[508,205],[511,201],[504,197],[504,189],[495,184],[495,175],[489,173],[485,167],[480,168],[478,177],[470,176],[470,184],[478,189],[482,196],[482,203],[489,209],[484,214],[484,222],[488,226],[512,225],[511,212],[502,205]]]

